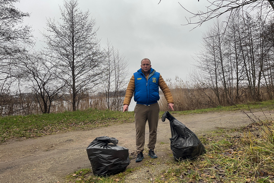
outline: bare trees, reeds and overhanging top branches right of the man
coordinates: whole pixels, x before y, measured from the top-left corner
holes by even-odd
[[[167,80],[176,110],[273,99],[273,1],[209,0],[196,13],[178,3],[190,14],[183,25],[195,29],[210,20],[215,23],[203,34],[187,81],[178,76]]]

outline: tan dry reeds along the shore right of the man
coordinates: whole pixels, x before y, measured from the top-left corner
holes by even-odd
[[[188,81],[184,82],[178,76],[175,77],[175,81],[167,79],[166,84],[172,93],[176,111],[231,106],[235,103],[245,104],[258,101],[258,99],[250,94],[250,90],[244,86],[239,88],[238,95],[236,95],[236,88],[228,88],[228,98],[226,98],[223,87],[219,87],[218,91],[216,91],[216,88],[209,88],[201,83],[190,84]],[[272,91],[268,88],[260,88],[259,101],[271,100],[273,99],[272,96]],[[166,99],[161,91],[159,105],[161,111],[168,110]]]

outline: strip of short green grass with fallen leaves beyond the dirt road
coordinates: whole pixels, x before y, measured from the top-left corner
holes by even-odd
[[[244,109],[273,109],[274,101],[253,102],[248,105],[218,106],[209,109],[197,109],[189,111],[174,111],[171,114],[191,114],[214,111],[231,111]],[[162,117],[164,112],[160,112]],[[108,126],[117,123],[134,122],[134,113],[118,111],[100,111],[87,109],[83,111],[64,112],[57,114],[38,114],[29,116],[8,116],[0,118],[0,143],[11,138],[35,138],[38,136],[50,135],[58,132],[71,130],[90,130],[97,127]]]

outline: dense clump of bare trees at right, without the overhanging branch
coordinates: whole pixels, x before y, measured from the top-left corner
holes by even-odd
[[[234,12],[225,21],[217,19],[201,43],[188,82],[179,87],[181,98],[192,103],[187,109],[273,99],[272,16]]]

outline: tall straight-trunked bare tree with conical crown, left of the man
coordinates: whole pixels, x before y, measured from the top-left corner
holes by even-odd
[[[95,20],[89,20],[89,11],[82,12],[77,0],[64,1],[60,7],[62,22],[47,20],[43,33],[47,49],[53,53],[53,65],[60,71],[59,77],[68,86],[73,111],[77,101],[100,83],[103,77],[103,59],[99,40],[96,39]]]

